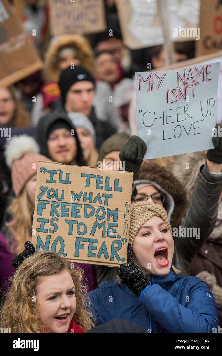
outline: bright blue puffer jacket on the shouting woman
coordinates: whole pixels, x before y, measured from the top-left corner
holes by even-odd
[[[152,275],[152,284],[139,298],[125,283],[106,281],[89,293],[97,324],[125,319],[148,333],[212,333],[219,325],[210,289],[194,276],[171,269],[166,276]]]

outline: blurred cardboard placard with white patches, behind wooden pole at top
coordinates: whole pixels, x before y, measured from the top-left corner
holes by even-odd
[[[157,0],[115,0],[115,3],[126,46],[139,49],[164,43]],[[198,27],[200,0],[170,0],[167,5],[171,41],[193,40],[195,37],[173,37],[173,28]]]

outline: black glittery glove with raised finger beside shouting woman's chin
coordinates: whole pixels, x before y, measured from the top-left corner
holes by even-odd
[[[150,281],[148,281],[145,274],[141,269],[134,265],[132,256],[132,247],[128,242],[127,246],[127,263],[122,263],[118,270],[118,276],[126,283],[127,287],[132,290],[138,297],[143,292],[143,290],[149,286]]]

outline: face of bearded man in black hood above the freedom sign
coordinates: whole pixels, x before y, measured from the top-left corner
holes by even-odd
[[[48,137],[49,158],[54,162],[74,164],[77,156],[75,137],[67,129],[54,130]]]

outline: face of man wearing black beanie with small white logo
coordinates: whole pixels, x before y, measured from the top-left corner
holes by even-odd
[[[65,111],[82,112],[88,116],[92,109],[94,95],[95,88],[93,83],[86,80],[74,83],[65,96]]]

